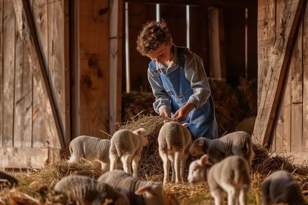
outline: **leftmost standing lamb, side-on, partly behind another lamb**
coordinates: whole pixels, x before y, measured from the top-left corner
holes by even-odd
[[[98,161],[103,172],[109,171],[110,140],[82,135],[73,139],[69,144],[69,162],[78,162],[80,159],[92,162]],[[119,167],[122,168],[122,164]]]

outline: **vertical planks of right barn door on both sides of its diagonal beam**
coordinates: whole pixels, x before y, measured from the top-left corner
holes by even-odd
[[[294,6],[298,2],[295,1]],[[277,58],[275,41],[278,39],[277,36],[284,35],[286,30],[285,22],[281,22],[285,18],[283,12],[288,3],[290,3],[288,0],[259,0],[258,107],[260,107],[261,88],[270,72],[272,62]],[[285,36],[284,39],[284,42],[288,37],[292,40],[292,50],[282,79],[277,112],[268,141],[271,151],[291,156],[290,159],[297,164],[308,159],[308,8],[301,9],[294,37]]]

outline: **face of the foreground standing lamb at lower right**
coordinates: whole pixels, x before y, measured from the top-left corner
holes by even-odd
[[[196,184],[199,182],[206,181],[205,174],[204,174],[204,165],[200,161],[201,159],[192,161],[189,165],[189,172],[188,172],[188,183]]]

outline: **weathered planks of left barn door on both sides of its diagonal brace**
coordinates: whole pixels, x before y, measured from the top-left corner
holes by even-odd
[[[65,130],[68,93],[64,86],[67,76],[64,2],[30,1],[63,133],[68,131]],[[0,167],[40,167],[48,160],[48,148],[62,147],[48,96],[31,74],[31,69],[40,67],[29,60],[29,50],[17,24],[12,0],[0,0],[0,156],[6,156],[6,160],[0,157]]]

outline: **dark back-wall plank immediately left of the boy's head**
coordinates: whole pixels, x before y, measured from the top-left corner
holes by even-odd
[[[161,16],[161,18],[163,17]],[[147,21],[152,21],[152,20],[155,20],[154,4],[145,4],[145,3],[128,4],[130,90],[152,92],[152,89],[150,88],[149,81],[147,78],[147,72],[148,72],[147,68],[149,67],[148,64],[150,62],[150,59],[148,57],[142,57],[141,54],[136,49],[137,37],[139,35],[140,30],[142,29],[142,26]],[[135,68],[143,68],[143,69],[135,69]],[[124,71],[123,73],[125,73]],[[123,85],[125,85],[125,83]]]

